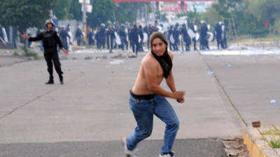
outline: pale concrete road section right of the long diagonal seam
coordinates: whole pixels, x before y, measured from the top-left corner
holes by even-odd
[[[279,55],[204,56],[246,124],[280,126]],[[231,65],[231,68],[228,68]],[[271,104],[270,100],[278,100]]]

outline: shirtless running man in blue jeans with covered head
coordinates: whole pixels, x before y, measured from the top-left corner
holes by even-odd
[[[176,91],[172,74],[173,54],[167,51],[167,40],[160,32],[150,38],[151,52],[142,60],[137,80],[130,90],[130,108],[137,127],[130,137],[123,138],[126,156],[134,156],[133,150],[141,140],[149,137],[153,130],[153,114],[167,124],[160,157],[174,155],[172,146],[179,129],[179,119],[167,98],[183,103],[185,91]],[[160,87],[163,78],[172,92]]]

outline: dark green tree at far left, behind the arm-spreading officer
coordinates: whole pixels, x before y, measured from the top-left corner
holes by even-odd
[[[41,28],[50,17],[54,0],[1,0],[0,24],[17,27],[25,32],[29,27]]]

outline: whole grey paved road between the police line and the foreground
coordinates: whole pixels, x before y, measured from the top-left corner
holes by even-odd
[[[75,55],[62,60],[64,85],[57,77],[56,84],[44,84],[48,74],[43,60],[0,68],[1,157],[97,156],[98,150],[98,156],[122,156],[118,143],[135,126],[129,89],[144,54],[100,60]],[[279,105],[269,103],[279,100],[279,57],[174,55],[176,87],[187,91],[183,105],[170,100],[181,123],[177,155],[221,150],[213,139],[241,135],[252,120],[279,124]],[[214,75],[207,74],[211,70]],[[167,89],[165,82],[162,86]],[[165,126],[156,118],[154,123],[151,137],[139,145],[141,156],[158,156]],[[220,153],[213,156],[225,155],[215,152]]]

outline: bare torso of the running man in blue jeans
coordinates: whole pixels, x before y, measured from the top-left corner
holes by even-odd
[[[170,52],[169,52],[170,55]],[[151,63],[156,63],[156,66],[149,67],[148,65]],[[147,64],[146,66],[144,64]],[[148,66],[148,67],[147,67]],[[144,57],[144,59],[141,62],[140,70],[137,75],[137,80],[134,84],[134,87],[132,87],[132,91],[134,94],[137,95],[146,95],[146,94],[153,94],[153,91],[150,91],[147,87],[147,81],[146,81],[146,75],[145,75],[145,68],[156,68],[156,81],[158,84],[160,84],[163,80],[163,70],[160,66],[160,63],[153,57],[153,54],[148,53]]]

